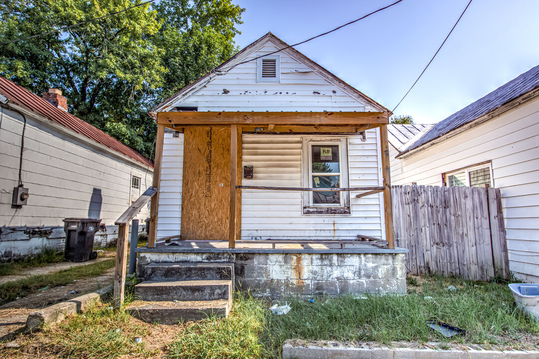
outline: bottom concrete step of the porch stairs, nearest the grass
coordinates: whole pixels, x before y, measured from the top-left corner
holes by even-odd
[[[148,323],[173,325],[179,321],[202,320],[209,315],[227,316],[231,303],[228,300],[209,301],[136,301],[127,307],[131,315]]]

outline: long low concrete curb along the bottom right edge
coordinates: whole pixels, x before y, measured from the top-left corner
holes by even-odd
[[[539,359],[539,351],[434,350],[412,348],[355,348],[328,342],[328,346],[282,346],[283,359]]]

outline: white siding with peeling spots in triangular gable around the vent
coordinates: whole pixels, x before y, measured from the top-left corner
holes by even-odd
[[[215,77],[174,106],[198,107],[199,112],[375,111],[285,53],[280,54],[278,61],[280,82],[258,82],[258,61],[254,59],[276,50],[267,43],[244,59],[252,61]]]

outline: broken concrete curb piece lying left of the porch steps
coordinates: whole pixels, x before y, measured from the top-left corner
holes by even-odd
[[[47,325],[52,327],[63,321],[66,316],[70,314],[77,314],[86,309],[89,305],[105,299],[106,296],[113,290],[114,285],[111,284],[93,293],[80,295],[71,300],[32,312],[26,319],[25,331],[36,332],[37,330],[43,329]]]

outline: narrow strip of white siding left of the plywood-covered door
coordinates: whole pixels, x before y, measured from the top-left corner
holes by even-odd
[[[166,132],[161,160],[157,239],[179,236],[182,224],[183,133]]]

